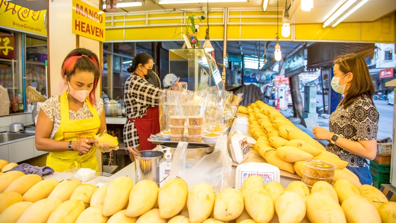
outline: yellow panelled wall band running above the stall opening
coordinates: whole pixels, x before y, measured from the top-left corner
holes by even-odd
[[[148,26],[146,26],[146,15],[118,15],[112,14],[114,26],[111,26],[111,14],[106,19],[106,41],[126,40],[126,41],[144,41],[144,40],[181,40],[183,18],[187,19],[187,14],[183,13],[148,13]],[[259,12],[259,11],[230,11],[228,19],[230,24],[227,25],[228,40],[249,40],[249,39],[274,39],[276,38],[276,11]],[[281,17],[281,12],[279,13]],[[235,17],[232,17],[235,16]],[[245,18],[244,16],[251,16]],[[258,16],[258,17],[254,17]],[[177,18],[175,18],[177,17]],[[213,17],[213,18],[211,18]],[[142,21],[125,21],[125,19],[140,18]],[[158,20],[151,20],[160,18]],[[209,34],[211,39],[224,39],[223,11],[211,12],[209,14]],[[279,21],[279,37],[283,40],[292,41],[349,41],[349,42],[395,42],[395,14],[391,13],[377,19],[373,22],[362,23],[340,23],[336,27],[322,27],[322,23],[315,24],[297,24],[292,25],[294,38],[284,38],[280,35],[282,30],[282,18]],[[227,21],[225,21],[227,22]],[[130,27],[122,27],[129,25]],[[200,23],[200,31],[197,37],[200,40],[205,38],[206,21],[195,19],[195,23]],[[247,23],[247,24],[246,24]],[[249,24],[251,23],[251,24]],[[144,26],[144,27],[143,27]],[[125,37],[124,37],[125,30]],[[293,36],[293,35],[291,35]],[[124,39],[125,38],[125,39]]]

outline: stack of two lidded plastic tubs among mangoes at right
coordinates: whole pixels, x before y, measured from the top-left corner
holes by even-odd
[[[331,184],[337,165],[323,160],[304,161],[303,181],[309,188],[318,181],[326,181]]]

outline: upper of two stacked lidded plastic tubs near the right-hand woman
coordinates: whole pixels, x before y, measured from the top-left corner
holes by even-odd
[[[337,165],[324,160],[306,160],[304,161],[305,174],[312,177],[332,178]]]

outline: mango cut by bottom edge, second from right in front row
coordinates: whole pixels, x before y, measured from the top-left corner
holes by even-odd
[[[360,195],[352,195],[346,198],[341,208],[348,223],[381,223],[381,216],[377,208]]]

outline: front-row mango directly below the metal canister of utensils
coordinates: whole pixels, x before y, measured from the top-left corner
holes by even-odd
[[[139,217],[154,207],[157,197],[158,185],[154,181],[139,181],[129,193],[129,204],[125,215]]]

